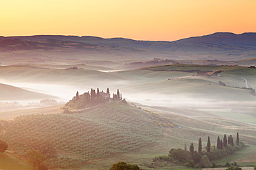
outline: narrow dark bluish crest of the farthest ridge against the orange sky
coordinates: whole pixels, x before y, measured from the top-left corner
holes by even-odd
[[[65,36],[65,35],[33,35],[33,36],[0,36],[1,39],[27,39],[27,40],[47,40],[55,39],[62,41],[82,41],[84,43],[95,43],[102,45],[124,45],[127,43],[138,45],[138,47],[149,47],[154,43],[217,43],[217,44],[239,44],[239,45],[256,45],[256,32],[245,32],[243,34],[234,34],[231,32],[216,32],[213,34],[194,36],[186,39],[180,39],[177,41],[138,41],[134,39],[125,39],[122,37],[114,37],[110,39],[104,39],[98,36]]]

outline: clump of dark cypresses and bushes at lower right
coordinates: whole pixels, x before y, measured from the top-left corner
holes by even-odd
[[[187,146],[184,149],[171,149],[168,156],[159,156],[154,158],[156,160],[165,160],[174,162],[176,164],[183,164],[186,167],[210,167],[210,160],[216,160],[223,158],[223,156],[235,153],[235,151],[244,148],[243,142],[239,142],[239,134],[237,133],[237,140],[234,143],[232,135],[217,138],[217,147],[211,145],[210,136],[205,146],[205,150],[202,147],[202,140],[199,138],[198,151],[194,151],[194,143],[191,143],[190,150],[187,151]]]

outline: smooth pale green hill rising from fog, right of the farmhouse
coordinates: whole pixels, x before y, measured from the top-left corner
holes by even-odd
[[[145,93],[148,94],[148,96],[150,96],[150,94],[161,94],[164,96],[176,95],[178,98],[179,96],[204,98],[205,100],[256,100],[256,97],[250,95],[250,91],[246,89],[223,87],[208,80],[202,81],[194,78],[134,85],[123,90],[127,90],[131,93]],[[154,98],[154,96],[152,96],[152,98]],[[170,98],[170,100],[175,100],[175,98]]]

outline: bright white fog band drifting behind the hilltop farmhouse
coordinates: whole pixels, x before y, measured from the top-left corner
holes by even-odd
[[[143,93],[143,92],[129,92],[129,90],[122,90],[122,87],[127,85],[127,81],[118,81],[115,83],[88,83],[82,85],[57,85],[57,84],[42,84],[42,83],[8,83],[3,82],[7,85],[15,87],[21,87],[31,92],[39,92],[56,96],[58,102],[67,102],[75,96],[78,91],[79,94],[84,92],[91,92],[91,88],[100,89],[100,92],[106,92],[107,88],[110,89],[110,94],[116,94],[117,89],[120,90],[122,98],[125,98],[129,102],[140,103],[149,106],[161,106],[161,107],[179,107],[179,108],[216,108],[216,107],[244,107],[253,106],[253,102],[241,102],[241,101],[229,101],[229,100],[214,100],[211,98],[194,98],[190,94],[156,94],[156,93]],[[39,103],[38,100],[15,100],[21,105],[28,105],[28,103]],[[8,101],[14,102],[14,101]]]

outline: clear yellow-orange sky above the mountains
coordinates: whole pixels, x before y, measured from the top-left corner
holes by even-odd
[[[0,0],[0,36],[175,41],[256,32],[255,0]]]

